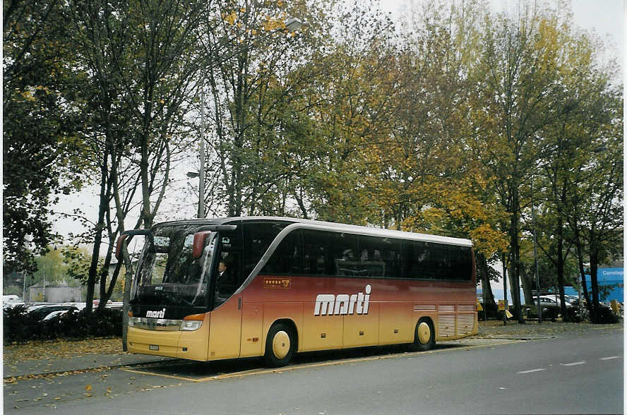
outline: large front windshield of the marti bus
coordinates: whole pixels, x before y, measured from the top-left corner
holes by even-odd
[[[193,255],[198,227],[157,227],[146,241],[131,289],[131,304],[192,306],[208,303],[209,270],[215,248],[215,232],[207,232],[203,251]]]

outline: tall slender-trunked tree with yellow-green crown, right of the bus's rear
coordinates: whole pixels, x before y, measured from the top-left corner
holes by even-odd
[[[563,88],[556,12],[523,6],[520,16],[486,16],[483,52],[477,72],[478,128],[488,143],[484,167],[497,181],[498,200],[508,212],[503,222],[509,237],[507,258],[515,317],[520,312],[521,185],[535,169],[535,140],[542,128],[563,117]]]

